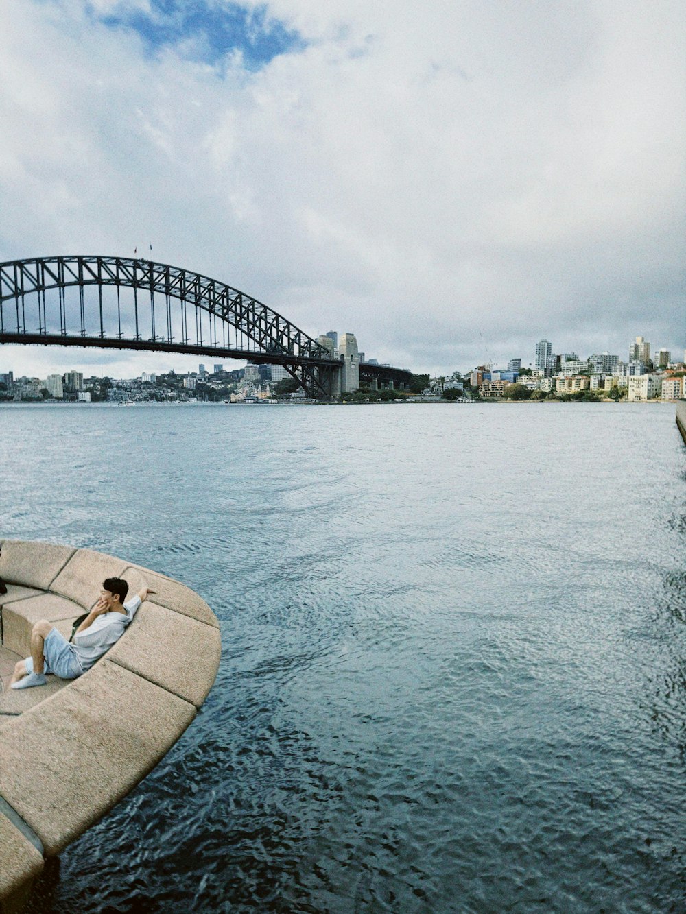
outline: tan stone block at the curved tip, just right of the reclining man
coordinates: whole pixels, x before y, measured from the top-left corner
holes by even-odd
[[[146,600],[107,657],[200,707],[220,654],[218,629]]]

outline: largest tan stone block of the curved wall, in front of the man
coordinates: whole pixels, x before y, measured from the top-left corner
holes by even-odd
[[[141,781],[196,709],[103,658],[0,740],[0,794],[59,854]]]

